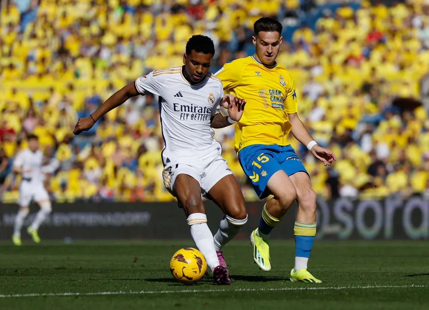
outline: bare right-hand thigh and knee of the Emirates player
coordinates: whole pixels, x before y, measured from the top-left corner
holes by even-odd
[[[213,185],[207,193],[207,198],[233,219],[245,219],[247,216],[243,193],[233,174],[224,176]]]

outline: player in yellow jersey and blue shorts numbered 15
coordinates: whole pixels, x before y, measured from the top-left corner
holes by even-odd
[[[235,148],[240,164],[260,199],[274,195],[263,207],[259,227],[251,234],[254,261],[262,270],[271,269],[269,234],[297,199],[293,229],[295,266],[290,271],[290,280],[320,283],[307,271],[316,235],[316,193],[287,136],[291,132],[325,166],[336,158],[331,151],[317,145],[299,119],[292,76],[275,61],[282,30],[273,18],[258,19],[253,36],[256,53],[225,64],[216,75],[222,80],[224,91],[247,101],[242,118],[235,124]]]

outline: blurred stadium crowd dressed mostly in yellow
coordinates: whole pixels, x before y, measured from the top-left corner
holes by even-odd
[[[252,27],[262,15],[287,26],[306,9],[299,0],[9,0],[0,11],[0,152],[10,161],[0,174],[33,133],[61,163],[46,180],[57,201],[173,200],[161,179],[156,97],[130,99],[73,136],[77,119],[150,70],[181,64],[193,34],[214,40],[215,72],[253,53]],[[429,120],[416,103],[429,69],[429,3],[363,1],[321,12],[314,25],[300,18],[278,56],[295,79],[300,117],[337,154],[328,169],[291,137],[315,191],[324,198],[429,191]],[[398,98],[409,100],[401,106]],[[233,149],[233,126],[215,138],[245,198],[257,200]],[[9,173],[4,202],[16,201],[19,182]]]

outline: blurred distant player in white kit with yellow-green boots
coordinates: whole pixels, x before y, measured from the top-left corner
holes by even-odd
[[[34,242],[40,242],[37,231],[52,211],[51,201],[49,200],[48,192],[43,186],[43,181],[46,174],[53,173],[59,166],[58,161],[55,159],[48,165],[43,166],[43,153],[39,150],[37,136],[29,135],[27,141],[28,149],[24,149],[16,155],[12,169],[14,173],[21,174],[18,199],[19,211],[15,218],[12,235],[12,241],[16,246],[22,244],[21,228],[30,211],[29,206],[32,200],[39,205],[40,210],[36,214],[33,223],[27,228],[27,232]]]

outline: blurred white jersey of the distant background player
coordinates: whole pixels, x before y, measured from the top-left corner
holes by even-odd
[[[30,170],[31,172],[23,172],[22,179],[27,182],[40,183],[45,180],[45,173],[53,173],[58,167],[59,162],[52,159],[48,165],[43,166],[43,153],[40,150],[31,152],[30,149],[24,149],[16,155],[13,161],[13,166],[20,167],[23,170]]]

